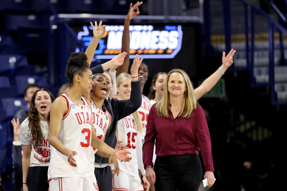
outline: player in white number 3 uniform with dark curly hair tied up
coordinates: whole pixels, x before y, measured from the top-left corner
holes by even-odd
[[[51,106],[49,143],[51,161],[48,174],[50,190],[98,190],[91,161],[91,147],[120,161],[128,161],[128,151],[116,151],[97,138],[92,123],[91,106],[84,94],[90,93],[92,71],[84,53],[72,53],[66,68],[70,83],[67,94]]]

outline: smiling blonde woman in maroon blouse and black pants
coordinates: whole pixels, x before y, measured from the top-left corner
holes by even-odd
[[[151,107],[147,120],[143,145],[147,180],[155,183],[156,191],[198,190],[202,177],[199,148],[204,178],[211,187],[215,178],[207,122],[190,78],[183,70],[173,69],[167,74],[162,99]]]

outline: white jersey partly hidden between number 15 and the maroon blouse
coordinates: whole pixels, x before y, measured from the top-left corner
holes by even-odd
[[[147,117],[149,116],[149,110],[151,108],[151,105],[148,97],[142,94],[141,98],[141,107],[138,108],[138,113],[140,114],[141,121],[143,123],[143,131],[141,132],[141,138],[142,140],[144,140],[144,136],[146,136]]]

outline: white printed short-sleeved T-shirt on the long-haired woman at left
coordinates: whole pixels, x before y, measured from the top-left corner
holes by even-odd
[[[50,144],[48,142],[49,135],[49,124],[48,121],[40,120],[40,127],[42,131],[42,140],[38,143],[38,146],[35,145],[35,142],[32,138],[30,127],[28,126],[29,121],[26,118],[20,128],[20,143],[22,145],[31,145],[31,156],[30,156],[30,167],[34,166],[49,166],[51,154],[50,154]]]

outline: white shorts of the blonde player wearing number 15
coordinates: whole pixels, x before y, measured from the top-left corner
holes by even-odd
[[[121,170],[119,176],[114,175],[113,173],[113,189],[115,191],[144,191],[139,175],[130,175]]]

